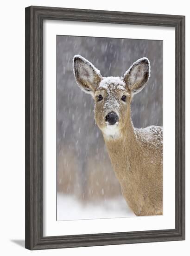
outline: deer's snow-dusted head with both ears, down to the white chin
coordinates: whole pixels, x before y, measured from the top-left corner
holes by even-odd
[[[133,94],[141,91],[150,77],[149,60],[144,57],[135,61],[124,77],[102,77],[100,71],[80,55],[74,56],[73,68],[79,87],[95,100],[98,127],[105,135],[119,135],[127,124]]]

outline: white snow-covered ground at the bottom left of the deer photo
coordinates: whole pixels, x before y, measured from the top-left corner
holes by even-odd
[[[57,194],[57,220],[134,217],[120,196],[112,200],[81,203],[74,196]]]

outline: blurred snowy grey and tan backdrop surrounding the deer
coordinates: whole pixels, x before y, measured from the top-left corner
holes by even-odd
[[[162,126],[162,41],[57,36],[57,220],[134,216],[120,192],[94,101],[77,86],[72,59],[80,54],[102,76],[123,76],[147,57],[151,77],[132,102],[134,127]]]

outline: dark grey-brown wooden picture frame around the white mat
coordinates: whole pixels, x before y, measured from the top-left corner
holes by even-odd
[[[43,20],[174,27],[176,35],[175,229],[43,236]],[[25,8],[25,248],[53,249],[185,239],[185,17],[56,7]]]

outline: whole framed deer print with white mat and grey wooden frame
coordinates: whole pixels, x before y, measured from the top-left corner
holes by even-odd
[[[25,247],[185,239],[185,17],[25,9]]]

